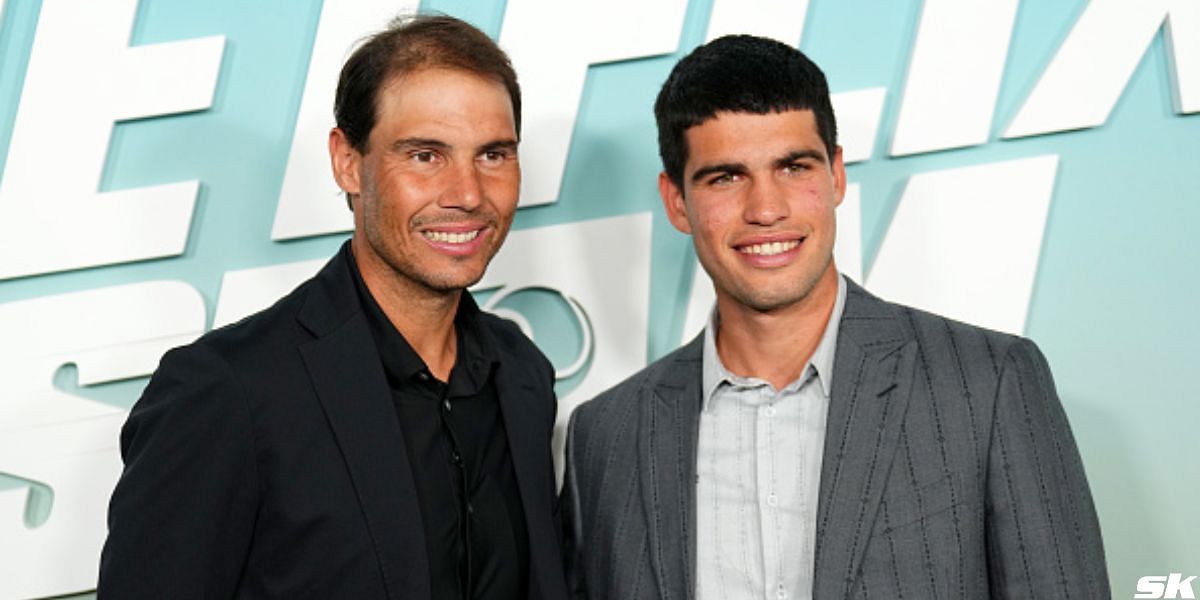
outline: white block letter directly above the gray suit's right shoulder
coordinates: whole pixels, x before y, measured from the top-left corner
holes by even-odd
[[[866,287],[954,319],[1024,332],[1057,167],[1050,155],[913,175]]]

